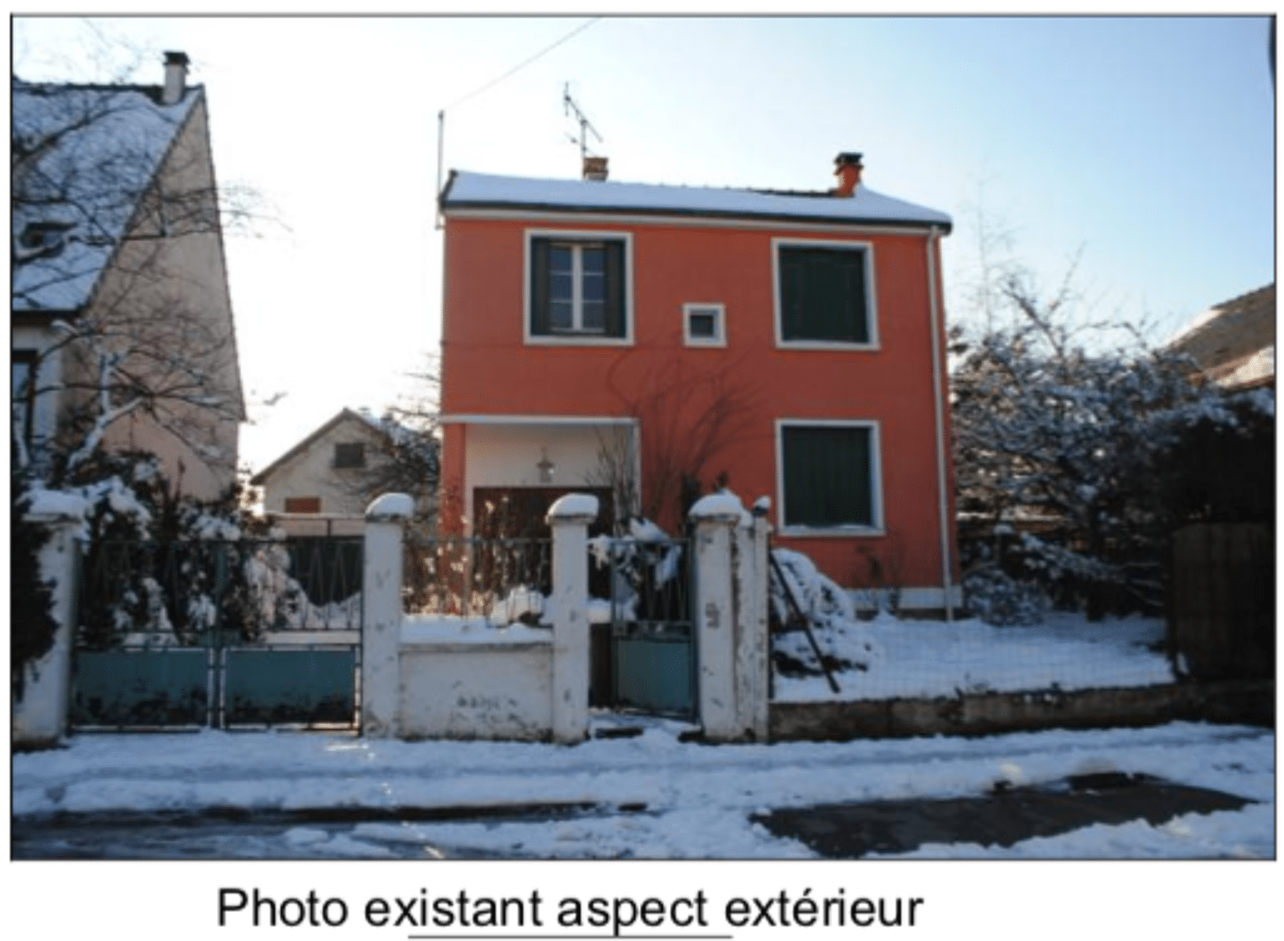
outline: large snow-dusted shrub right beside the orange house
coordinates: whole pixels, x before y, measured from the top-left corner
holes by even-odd
[[[1162,610],[1175,458],[1192,429],[1230,429],[1236,410],[1188,359],[1077,330],[1064,294],[1041,302],[1011,281],[1004,298],[1011,325],[954,334],[959,511],[976,521],[964,569],[996,564],[1093,620]]]

